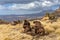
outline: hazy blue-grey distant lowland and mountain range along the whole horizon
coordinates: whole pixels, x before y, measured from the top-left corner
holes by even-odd
[[[54,10],[44,10],[39,13],[32,13],[32,14],[24,14],[24,15],[0,15],[0,19],[7,20],[7,21],[14,21],[14,20],[24,20],[27,18],[34,19],[36,17],[44,16],[46,12],[53,12]]]

